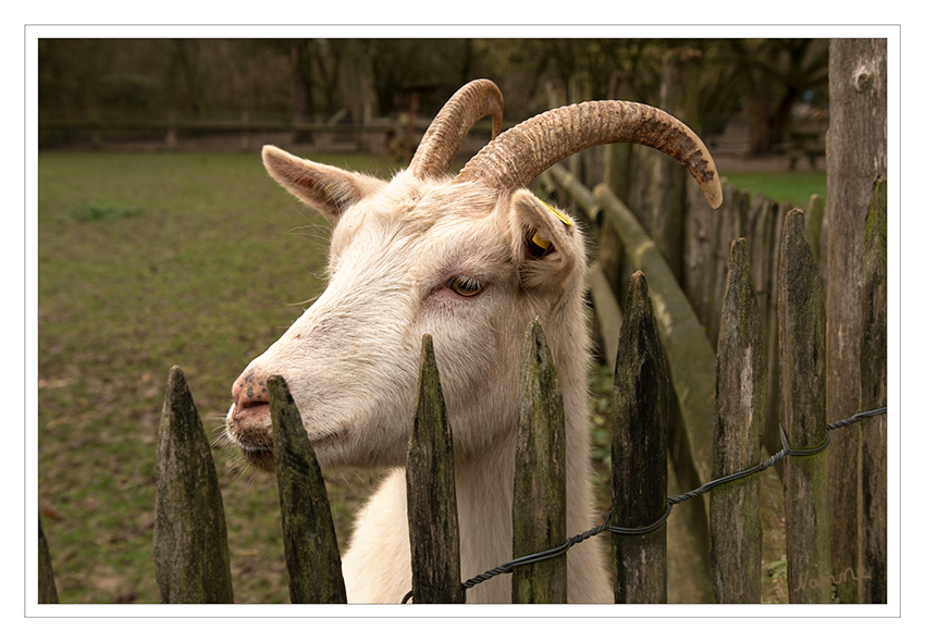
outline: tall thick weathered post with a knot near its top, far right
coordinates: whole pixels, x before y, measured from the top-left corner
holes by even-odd
[[[871,185],[887,175],[887,40],[832,38],[829,44],[826,145],[827,421],[851,417],[861,396],[861,281]],[[829,447],[832,569],[858,569],[861,524],[861,431],[837,430]],[[837,587],[858,601],[858,583]]]

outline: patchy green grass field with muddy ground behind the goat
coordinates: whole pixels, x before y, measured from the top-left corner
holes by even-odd
[[[741,187],[803,205],[800,177]],[[60,600],[159,602],[157,431],[177,365],[214,444],[235,600],[287,602],[275,479],[219,435],[232,382],[323,287],[329,224],[257,153],[42,152],[38,207],[38,499]],[[330,480],[342,545],[371,479]]]

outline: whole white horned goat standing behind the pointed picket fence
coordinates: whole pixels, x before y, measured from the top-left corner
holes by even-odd
[[[498,136],[503,99],[491,81],[457,91],[390,182],[274,147],[268,172],[334,221],[323,294],[232,388],[226,434],[272,470],[267,379],[288,383],[322,470],[392,469],[357,515],[343,572],[350,602],[396,603],[411,587],[405,471],[420,342],[433,336],[454,435],[461,572],[511,557],[519,355],[539,318],[562,386],[567,435],[567,526],[594,523],[583,311],[585,246],[566,214],[527,186],[568,156],[609,143],[655,147],[684,164],[711,205],[719,178],[703,143],[655,108],[572,104]],[[493,140],[447,175],[471,126],[491,115]],[[613,602],[600,541],[569,553],[570,602]],[[510,577],[467,592],[510,601]]]

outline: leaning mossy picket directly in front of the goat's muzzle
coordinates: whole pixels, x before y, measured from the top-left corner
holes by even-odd
[[[346,604],[341,553],[324,478],[288,385],[267,380],[283,547],[293,604]]]

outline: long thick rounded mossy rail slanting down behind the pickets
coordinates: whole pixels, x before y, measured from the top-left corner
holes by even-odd
[[[636,270],[645,273],[649,296],[661,337],[665,342],[670,382],[683,421],[682,430],[679,431],[678,457],[681,466],[678,481],[689,489],[699,487],[710,481],[713,471],[716,356],[671,270],[632,212],[604,185],[594,188],[594,198],[619,234],[628,261]],[[703,502],[708,504],[706,496]],[[702,523],[705,524],[706,515],[702,513]],[[702,535],[705,550],[706,532]]]

